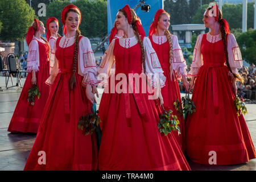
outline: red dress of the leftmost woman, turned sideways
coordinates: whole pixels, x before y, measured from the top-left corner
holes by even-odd
[[[22,92],[18,103],[15,107],[13,117],[8,128],[8,131],[19,131],[22,133],[37,133],[42,116],[44,106],[46,105],[47,98],[49,96],[49,86],[44,82],[49,77],[49,51],[48,44],[44,44],[37,39],[39,46],[39,71],[35,72],[36,85],[38,85],[40,91],[40,98],[35,98],[34,105],[28,102],[28,90],[31,88],[32,73],[28,73],[26,81],[24,83]]]

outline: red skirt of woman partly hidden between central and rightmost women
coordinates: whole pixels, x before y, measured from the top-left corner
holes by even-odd
[[[178,135],[177,131],[172,131],[174,134],[174,137],[177,140],[177,143],[179,144],[181,150],[185,152],[185,125],[184,125],[184,117],[183,114],[179,114],[178,111],[174,107],[174,102],[178,99],[181,103],[181,97],[180,97],[180,89],[179,84],[177,82],[176,76],[173,77],[171,80],[170,76],[170,69],[169,68],[163,68],[164,76],[166,76],[166,82],[163,88],[161,88],[161,93],[163,96],[164,101],[164,109],[165,110],[172,110],[172,114],[177,116],[177,119],[179,119],[179,127],[180,127],[180,135]]]

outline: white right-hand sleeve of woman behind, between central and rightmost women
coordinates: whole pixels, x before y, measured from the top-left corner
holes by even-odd
[[[180,48],[177,36],[172,35],[172,47],[174,51],[174,56],[172,58],[172,68],[174,68],[175,71],[177,71],[177,77],[181,76],[187,76],[187,65],[186,61],[183,57],[182,50]],[[181,75],[181,76],[180,76]]]

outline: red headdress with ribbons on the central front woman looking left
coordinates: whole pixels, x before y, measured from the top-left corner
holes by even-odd
[[[127,14],[127,21],[129,24],[131,24],[133,22],[133,13],[131,13],[131,9],[129,5],[125,5],[125,7],[122,8],[123,10],[125,10],[125,13]],[[145,31],[142,27],[141,24],[141,19],[139,19],[139,17],[137,16],[137,20],[136,20],[136,27],[138,30],[139,35],[141,36],[146,36]],[[110,32],[110,37],[109,37],[109,44],[112,42],[114,36],[117,34],[117,27],[114,25],[114,27],[112,28],[111,32]]]

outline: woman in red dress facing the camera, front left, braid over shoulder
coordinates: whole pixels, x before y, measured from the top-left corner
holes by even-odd
[[[52,88],[24,170],[97,169],[96,135],[77,129],[80,117],[91,113],[96,102],[95,58],[89,39],[80,35],[78,7],[64,7],[61,21],[65,35],[56,40],[55,65],[46,81]]]

